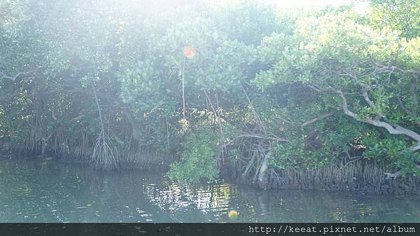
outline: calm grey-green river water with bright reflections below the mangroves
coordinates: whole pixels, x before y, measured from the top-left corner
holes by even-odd
[[[183,186],[159,172],[0,160],[0,222],[420,222],[420,196]]]

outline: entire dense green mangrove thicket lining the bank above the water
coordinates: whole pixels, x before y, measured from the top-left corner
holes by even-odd
[[[179,181],[419,175],[420,2],[369,4],[8,0],[1,145],[97,169],[168,160]]]

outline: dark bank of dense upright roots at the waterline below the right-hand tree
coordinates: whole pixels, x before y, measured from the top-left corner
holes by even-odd
[[[374,162],[354,162],[342,167],[331,163],[318,169],[272,169],[264,184],[253,177],[225,167],[222,176],[260,189],[348,190],[385,195],[420,195],[420,178],[414,175],[389,177],[386,167]]]

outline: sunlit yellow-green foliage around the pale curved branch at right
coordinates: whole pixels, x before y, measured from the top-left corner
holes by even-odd
[[[416,39],[406,41],[398,32],[373,29],[357,22],[346,12],[304,18],[297,24],[295,32],[292,40],[282,35],[265,39],[260,47],[262,52],[267,53],[262,55],[262,59],[272,66],[269,70],[260,71],[253,84],[261,90],[276,88],[278,85],[300,84],[305,89],[295,92],[297,96],[304,92],[308,95],[307,88],[314,90],[314,95],[309,95],[310,102],[305,101],[304,106],[292,105],[288,110],[300,117],[309,118],[302,112],[311,114],[311,109],[318,108],[318,114],[321,115],[335,108],[339,110],[337,114],[344,113],[347,116],[344,119],[353,118],[368,123],[372,125],[371,129],[376,126],[381,133],[377,137],[379,144],[365,147],[365,156],[376,156],[405,172],[418,172],[414,158],[417,154],[408,151],[409,146],[415,146],[420,141],[416,135],[408,134],[418,132],[418,124],[413,122],[418,119],[418,72],[414,72],[416,69],[411,67],[412,63],[417,63],[417,59],[413,56],[416,53],[410,52],[411,56],[408,57],[405,50],[407,43],[414,45]],[[293,41],[295,43],[289,43]],[[388,130],[381,128],[385,123],[390,124]],[[364,134],[357,133],[361,124],[352,125],[351,129],[346,129],[344,124],[335,126],[328,123],[321,127],[325,136],[321,138],[322,145],[315,148],[315,156],[326,155],[332,159],[351,149],[356,151],[351,145],[364,139]],[[388,137],[388,133],[394,132],[394,129],[402,130],[400,126],[410,131],[398,132],[405,136],[393,136],[392,142],[381,137]],[[298,134],[297,137],[305,135]],[[320,140],[319,136],[315,138]],[[304,141],[297,140],[301,139],[277,147],[277,152],[281,153],[280,160],[292,162],[292,165],[311,160],[314,151],[306,148],[307,143]],[[293,151],[296,151],[298,159],[303,156],[302,160],[290,160]],[[316,162],[323,163],[322,158]]]

